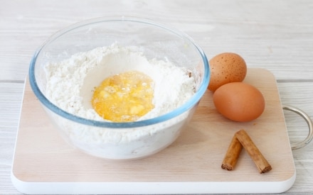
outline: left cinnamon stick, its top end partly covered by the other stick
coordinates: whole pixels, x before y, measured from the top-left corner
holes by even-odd
[[[235,165],[237,163],[238,157],[242,149],[243,145],[240,144],[239,140],[234,135],[230,145],[228,146],[226,155],[223,159],[223,163],[221,166],[222,169],[226,169],[228,171],[233,170],[235,168]]]

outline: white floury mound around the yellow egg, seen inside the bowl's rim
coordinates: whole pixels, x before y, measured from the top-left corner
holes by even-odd
[[[195,94],[196,81],[187,69],[171,62],[147,60],[138,48],[117,44],[79,52],[67,60],[46,65],[46,96],[68,113],[105,121],[91,106],[94,87],[105,78],[137,70],[154,80],[154,108],[140,120],[161,116],[186,103]]]

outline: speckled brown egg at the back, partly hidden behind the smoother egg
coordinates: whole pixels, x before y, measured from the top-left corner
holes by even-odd
[[[208,89],[216,91],[218,87],[230,82],[242,82],[247,74],[245,60],[240,55],[224,52],[213,57],[210,62],[210,82]]]

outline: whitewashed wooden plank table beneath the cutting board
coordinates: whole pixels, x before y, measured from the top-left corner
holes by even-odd
[[[150,18],[191,35],[208,58],[236,52],[270,70],[282,104],[313,118],[313,1],[9,1],[0,0],[0,194],[19,194],[10,172],[23,83],[36,48],[60,28],[99,16]],[[285,111],[290,142],[307,124]],[[273,127],[275,128],[275,127]],[[293,150],[297,179],[285,194],[313,193],[313,143]]]

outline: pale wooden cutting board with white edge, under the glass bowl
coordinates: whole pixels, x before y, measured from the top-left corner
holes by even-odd
[[[58,135],[28,82],[16,138],[12,182],[26,194],[278,193],[295,182],[295,165],[275,77],[250,68],[244,82],[260,89],[266,107],[255,121],[217,113],[206,91],[189,126],[169,147],[142,160],[86,155]],[[245,150],[233,171],[221,162],[233,134],[245,129],[272,170],[259,174]]]

